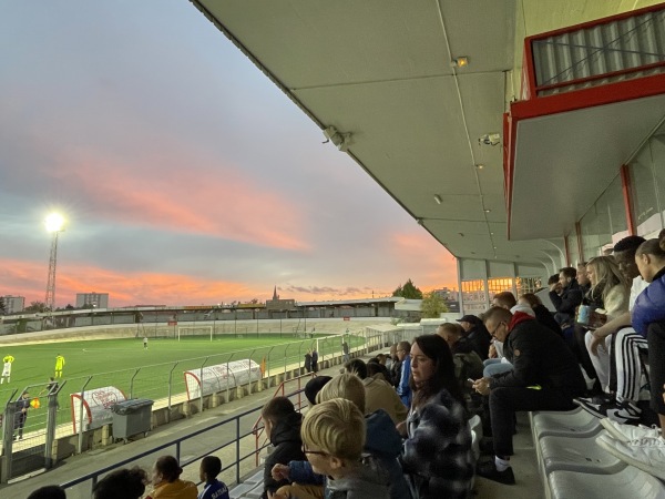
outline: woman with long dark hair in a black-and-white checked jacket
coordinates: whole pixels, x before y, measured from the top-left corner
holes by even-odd
[[[468,498],[473,478],[471,430],[448,344],[419,336],[411,349],[413,405],[406,425],[402,468],[415,499]]]

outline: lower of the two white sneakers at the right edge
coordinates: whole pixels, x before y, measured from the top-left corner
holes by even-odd
[[[662,437],[618,441],[601,434],[596,444],[622,461],[665,480],[665,439]]]

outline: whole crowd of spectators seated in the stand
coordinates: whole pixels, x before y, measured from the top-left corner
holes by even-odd
[[[345,349],[342,373],[307,384],[304,416],[287,397],[269,400],[263,499],[469,498],[474,476],[519,479],[516,413],[576,407],[607,430],[600,446],[665,479],[665,231],[625,237],[611,253],[561,268],[544,292],[499,293],[481,317],[399,342],[390,355],[366,363]],[[308,371],[316,357],[308,352]],[[480,459],[475,415],[489,437]],[[151,499],[226,499],[221,469],[204,458],[198,491],[163,456],[151,476],[108,475],[93,497],[140,498],[149,487]],[[30,498],[64,497],[55,489]]]

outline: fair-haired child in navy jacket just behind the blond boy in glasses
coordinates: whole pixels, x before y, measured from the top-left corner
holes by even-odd
[[[390,481],[391,499],[408,499],[409,487],[402,475],[398,457],[401,451],[401,438],[395,422],[383,409],[368,413],[366,407],[366,389],[359,383],[358,376],[350,373],[334,377],[319,393],[319,403],[334,398],[344,398],[352,401],[367,416],[367,434],[364,451],[372,456],[377,465],[386,472]],[[400,403],[401,404],[401,403]]]

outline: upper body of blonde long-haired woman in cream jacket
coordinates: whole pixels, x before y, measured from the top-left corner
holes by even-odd
[[[607,318],[628,310],[631,285],[613,256],[596,256],[586,264],[591,289],[585,303],[605,310]]]

